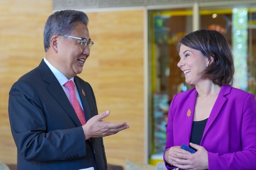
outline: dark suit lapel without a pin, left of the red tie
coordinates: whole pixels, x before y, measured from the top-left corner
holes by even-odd
[[[38,66],[42,79],[49,83],[47,90],[52,94],[53,98],[59,103],[59,105],[66,111],[71,119],[75,122],[77,126],[81,126],[81,123],[69,101],[66,93],[63,91],[63,88],[60,86],[57,78],[52,73],[51,69],[47,66],[44,61]]]

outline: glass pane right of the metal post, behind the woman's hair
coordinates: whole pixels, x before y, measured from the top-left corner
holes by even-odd
[[[200,11],[201,28],[222,33],[231,48],[235,74],[233,87],[255,91],[256,8],[226,8]]]

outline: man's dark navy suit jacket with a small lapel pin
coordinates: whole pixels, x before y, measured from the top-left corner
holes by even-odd
[[[98,114],[92,87],[77,76],[74,82],[89,120]],[[102,138],[85,140],[66,93],[44,61],[13,84],[9,118],[17,169],[107,169]]]

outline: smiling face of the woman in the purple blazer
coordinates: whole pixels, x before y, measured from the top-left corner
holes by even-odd
[[[200,51],[183,44],[180,46],[179,55],[180,61],[177,65],[183,71],[186,83],[197,85],[202,82],[202,72],[209,64],[209,60]]]

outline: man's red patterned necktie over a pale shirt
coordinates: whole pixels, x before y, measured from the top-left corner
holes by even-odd
[[[79,118],[82,125],[86,124],[86,117],[84,116],[84,112],[76,98],[75,94],[75,86],[73,81],[67,81],[64,85],[69,90],[69,96],[71,104],[76,112],[77,117]]]

